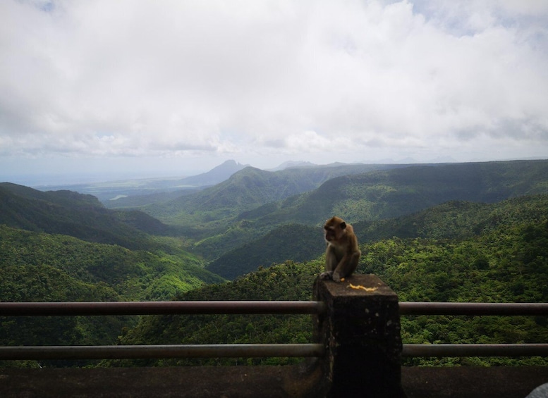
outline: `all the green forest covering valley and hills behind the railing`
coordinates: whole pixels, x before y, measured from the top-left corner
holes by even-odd
[[[150,205],[106,209],[90,195],[2,183],[0,301],[310,300],[324,260],[320,225],[336,213],[353,223],[358,235],[363,255],[357,272],[378,275],[401,301],[547,302],[547,161],[409,169],[319,178],[317,187],[287,197],[265,189],[286,184],[283,173],[272,173],[271,179],[267,172],[243,169],[211,191],[185,192],[184,206],[163,202],[152,211]],[[293,185],[298,175],[291,175]],[[310,171],[301,175],[310,183]],[[242,192],[247,201],[237,201]],[[235,207],[227,212],[230,206]],[[405,316],[401,323],[404,343],[548,342],[546,316]],[[311,340],[310,316],[0,317],[4,346]],[[295,361],[3,361],[0,366]],[[548,363],[532,357],[425,358],[406,364]]]

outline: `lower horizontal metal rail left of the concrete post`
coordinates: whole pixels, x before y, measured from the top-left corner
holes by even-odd
[[[256,358],[323,356],[323,344],[164,344],[0,347],[0,359]]]

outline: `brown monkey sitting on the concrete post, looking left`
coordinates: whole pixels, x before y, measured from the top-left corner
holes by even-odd
[[[322,279],[332,279],[341,282],[358,267],[362,252],[358,247],[358,239],[352,225],[342,218],[331,217],[324,225],[325,242],[325,272],[319,274]]]

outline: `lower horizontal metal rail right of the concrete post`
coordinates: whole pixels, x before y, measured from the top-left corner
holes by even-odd
[[[548,356],[548,344],[403,344],[402,356]]]

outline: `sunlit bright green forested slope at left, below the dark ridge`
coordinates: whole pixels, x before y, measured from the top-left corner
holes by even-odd
[[[131,251],[0,225],[0,301],[168,300],[219,282],[190,255]],[[113,344],[137,321],[135,316],[0,317],[0,345]]]

